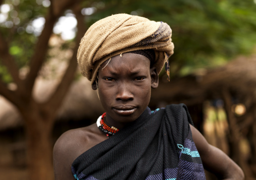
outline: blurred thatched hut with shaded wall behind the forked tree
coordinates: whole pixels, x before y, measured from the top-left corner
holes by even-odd
[[[56,84],[57,81],[39,78],[33,93],[37,101],[43,102],[48,99]],[[103,108],[96,91],[91,88],[91,83],[86,78],[74,81],[59,109],[52,142],[54,143],[61,133],[69,129],[95,122],[102,112]],[[16,107],[2,96],[0,96],[0,135],[0,144],[2,144],[0,152],[9,152],[9,160],[16,165],[24,166],[26,146],[23,119]],[[10,152],[12,157],[10,157]],[[1,154],[6,156],[6,154]]]

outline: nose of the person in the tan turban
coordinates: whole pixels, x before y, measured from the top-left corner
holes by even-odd
[[[118,85],[118,92],[116,95],[116,100],[129,101],[134,100],[134,95],[132,93],[132,87],[129,84],[120,84]]]

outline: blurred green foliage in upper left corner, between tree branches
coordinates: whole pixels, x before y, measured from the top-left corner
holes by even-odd
[[[8,18],[0,23],[0,33],[8,37],[6,40],[10,46],[9,53],[21,68],[29,63],[37,42],[31,24],[33,20],[44,16],[47,9],[32,0],[6,0],[4,4],[10,5],[11,11],[8,12]],[[4,82],[11,82],[12,78],[8,71],[3,65],[1,66],[0,77]]]

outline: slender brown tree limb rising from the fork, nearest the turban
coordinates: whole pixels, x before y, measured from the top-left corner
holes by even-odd
[[[78,33],[76,37],[76,46],[73,50],[74,53],[70,60],[70,64],[61,79],[61,82],[59,83],[55,92],[49,98],[49,101],[46,102],[46,107],[56,108],[56,109],[59,108],[65,95],[69,91],[69,87],[71,86],[71,83],[74,80],[74,75],[77,70],[77,51],[80,45],[80,41],[86,32],[86,28],[84,26],[84,17],[81,14],[81,8],[76,9],[74,11],[74,14],[76,15],[76,19],[78,21]]]

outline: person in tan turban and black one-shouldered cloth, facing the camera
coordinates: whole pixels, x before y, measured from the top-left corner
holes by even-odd
[[[151,111],[158,74],[173,54],[171,29],[162,22],[119,14],[96,22],[78,51],[106,113],[97,123],[62,134],[53,163],[61,179],[243,179],[225,153],[191,124],[183,104]],[[189,124],[190,123],[190,124]]]

